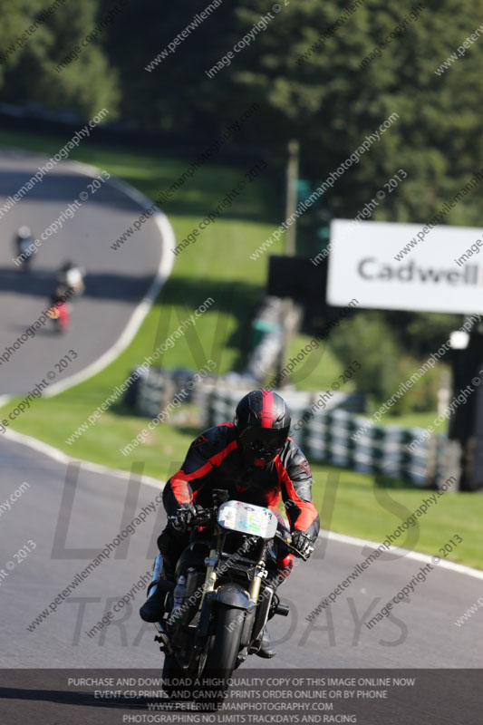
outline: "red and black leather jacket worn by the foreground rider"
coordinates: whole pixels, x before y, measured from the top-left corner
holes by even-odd
[[[302,531],[313,541],[319,533],[310,466],[292,439],[265,466],[249,466],[233,423],[205,430],[191,443],[183,465],[165,487],[163,502],[168,515],[190,503],[212,506],[213,488],[227,488],[229,498],[274,511],[282,497],[291,531]]]

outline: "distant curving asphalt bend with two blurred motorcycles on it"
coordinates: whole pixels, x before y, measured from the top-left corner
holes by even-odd
[[[46,160],[0,151],[0,207]],[[72,260],[86,270],[85,294],[72,304],[69,332],[58,335],[45,325],[8,360],[0,360],[0,395],[31,391],[47,380],[47,372],[54,373],[48,380],[52,386],[98,360],[120,338],[158,274],[163,262],[159,227],[148,219],[120,249],[111,249],[143,209],[109,180],[93,194],[90,183],[92,177],[80,173],[79,165],[61,161],[0,219],[0,356],[46,309],[63,262]],[[26,224],[34,237],[41,237],[82,192],[89,198],[74,208],[72,218],[65,218],[62,229],[43,241],[32,271],[23,274],[13,261],[16,229]],[[162,254],[171,253],[165,246]],[[77,358],[59,372],[56,363],[71,349]]]

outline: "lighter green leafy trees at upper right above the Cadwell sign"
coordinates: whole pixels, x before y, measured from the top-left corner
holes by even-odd
[[[327,194],[335,216],[354,216],[398,169],[408,178],[374,219],[425,222],[483,166],[480,126],[483,77],[474,45],[446,73],[437,68],[481,23],[483,0],[418,3],[367,0],[320,47],[303,58],[348,3],[280,4],[270,21],[223,74],[230,106],[255,98],[257,128],[267,143],[298,137],[303,168],[324,180],[391,113],[399,119]],[[266,14],[264,0],[237,8],[239,35]],[[360,67],[377,43],[404,22],[399,36]],[[478,43],[478,41],[477,41]],[[446,223],[479,225],[479,194],[470,193]]]

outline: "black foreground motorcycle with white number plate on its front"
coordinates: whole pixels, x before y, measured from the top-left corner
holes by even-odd
[[[227,499],[226,490],[215,489],[214,506],[197,507],[176,567],[177,583],[160,578],[159,554],[148,588],[148,596],[155,587],[165,593],[154,638],[165,653],[164,690],[172,696],[180,679],[186,684],[216,677],[215,706],[226,696],[234,670],[259,649],[267,621],[289,614],[275,594],[275,539],[278,556],[285,550],[306,560],[291,546],[288,532],[277,530],[269,508]],[[199,700],[193,692],[191,699]]]

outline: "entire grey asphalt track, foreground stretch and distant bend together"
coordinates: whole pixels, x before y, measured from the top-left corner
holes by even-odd
[[[38,163],[40,160],[2,157],[2,193],[21,186]],[[110,249],[109,243],[140,210],[118,189],[104,187],[98,197],[90,199],[89,208],[86,205],[72,219],[69,234],[66,230],[41,247],[27,284],[26,277],[9,263],[14,229],[25,222],[35,231],[47,227],[89,180],[72,169],[56,174],[32,192],[28,205],[19,203],[2,220],[5,244],[0,250],[0,294],[6,322],[0,333],[0,352],[38,315],[59,261],[72,256],[87,268],[87,293],[75,306],[72,331],[65,338],[38,333],[25,343],[24,350],[15,353],[15,362],[2,365],[2,392],[27,391],[70,347],[80,355],[72,372],[91,364],[119,338],[159,266],[159,232],[148,224],[142,255],[132,243],[120,252]],[[162,655],[153,642],[153,627],[138,616],[144,599],[141,590],[101,633],[90,637],[87,632],[130,591],[140,575],[150,571],[155,540],[165,524],[161,507],[150,512],[135,533],[58,604],[56,611],[33,631],[27,629],[76,573],[143,507],[150,506],[157,495],[156,482],[141,482],[139,470],[129,479],[119,472],[79,466],[8,435],[0,438],[0,459],[0,504],[24,482],[29,484],[11,510],[2,509],[0,515],[0,666],[19,672],[22,668],[45,668],[45,672],[47,668],[150,668],[159,672]],[[25,546],[31,551],[20,559],[17,552]],[[362,549],[330,535],[322,538],[310,562],[297,565],[280,589],[283,601],[291,605],[291,614],[275,617],[270,623],[276,659],[267,662],[250,657],[246,668],[483,667],[483,653],[476,644],[481,641],[481,613],[461,627],[455,625],[481,596],[481,580],[470,575],[436,566],[388,619],[372,630],[363,624],[417,575],[423,562],[411,556],[381,557],[330,608],[308,623],[306,615],[367,556]],[[12,562],[14,566],[8,564]],[[8,710],[4,720],[8,725],[34,720],[43,700],[57,703],[51,719],[40,720],[48,725],[72,722],[74,711],[79,721],[107,722],[105,710],[88,706],[80,696],[71,703],[71,710],[64,711],[58,707],[63,696],[53,696],[48,684],[41,682],[38,691],[28,691],[29,682],[23,682],[21,674],[19,684],[18,690],[4,693],[16,708]],[[0,712],[1,708],[0,704]],[[120,712],[121,708],[119,703]],[[18,720],[12,712],[18,713]],[[119,716],[116,721],[121,722]],[[472,722],[469,718],[461,721]]]

